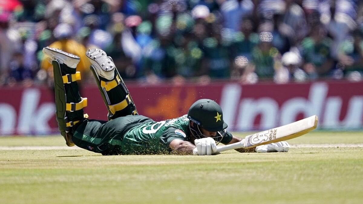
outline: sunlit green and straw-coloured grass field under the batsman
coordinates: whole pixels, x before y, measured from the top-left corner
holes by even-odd
[[[246,135],[246,133],[241,134]],[[315,131],[290,144],[363,144],[363,132]],[[55,150],[25,150],[54,146]],[[56,149],[55,147],[65,147]],[[4,147],[20,147],[5,150]],[[62,136],[0,138],[0,203],[361,203],[363,148],[288,153],[102,156]]]

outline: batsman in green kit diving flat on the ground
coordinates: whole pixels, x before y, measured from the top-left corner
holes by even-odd
[[[191,105],[187,115],[166,121],[156,122],[138,115],[112,58],[101,49],[89,49],[86,56],[106,104],[108,121],[89,119],[83,114],[87,98],[79,95],[77,84],[81,79],[81,74],[76,72],[80,58],[49,47],[43,53],[53,65],[56,117],[68,146],[76,145],[102,155],[212,155],[218,143],[242,140],[226,131],[228,125],[223,121],[222,109],[210,99],[200,99]],[[287,152],[289,148],[282,141],[258,146],[252,151]]]

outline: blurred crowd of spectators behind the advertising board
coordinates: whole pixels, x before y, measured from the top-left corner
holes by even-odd
[[[0,86],[52,83],[41,50],[100,48],[124,79],[359,81],[361,0],[1,0]]]

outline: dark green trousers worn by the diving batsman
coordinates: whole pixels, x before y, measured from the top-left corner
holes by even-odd
[[[61,73],[74,74],[76,69],[69,68],[61,64]],[[106,81],[106,79],[103,79]],[[77,82],[64,84],[67,103],[77,103],[81,101]],[[107,91],[111,104],[118,103],[125,99],[126,92],[121,86]],[[101,96],[100,96],[101,97]],[[66,116],[70,121],[80,121],[73,127],[68,128],[72,133],[72,140],[75,145],[83,149],[102,153],[103,155],[122,154],[121,142],[124,134],[130,128],[140,125],[140,123],[152,121],[142,115],[131,115],[135,110],[134,106],[127,106],[125,109],[117,111],[111,121],[92,120],[83,117],[83,109],[77,111],[66,111]]]

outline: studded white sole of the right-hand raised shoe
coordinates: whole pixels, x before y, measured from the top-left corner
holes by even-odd
[[[113,61],[107,57],[106,52],[101,49],[89,49],[86,56],[90,59],[93,65],[98,65],[105,72],[110,72],[115,69]]]

